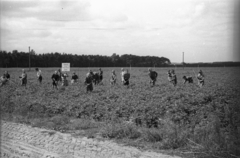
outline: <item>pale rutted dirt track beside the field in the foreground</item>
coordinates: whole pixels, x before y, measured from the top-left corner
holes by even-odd
[[[1,122],[2,158],[179,158],[142,152],[111,141],[75,138],[70,134]]]

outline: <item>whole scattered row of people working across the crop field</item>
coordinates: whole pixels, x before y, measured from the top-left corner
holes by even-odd
[[[42,72],[38,68],[36,68],[37,71],[37,79],[38,82],[41,84],[43,77],[42,77]],[[130,80],[130,73],[128,69],[123,69],[121,68],[121,82],[125,86],[129,86],[129,80]],[[157,81],[158,73],[151,68],[148,69],[148,75],[150,78],[150,85],[154,86],[155,82]],[[167,72],[168,75],[168,81],[175,87],[177,85],[177,76],[175,74],[175,71],[169,70]],[[52,86],[53,88],[58,89],[58,83],[60,82],[62,86],[68,86],[68,80],[67,80],[68,74],[67,73],[62,73],[61,69],[55,71],[52,74]],[[21,76],[19,76],[21,80],[21,85],[25,86],[27,85],[27,74],[25,70],[22,70]],[[199,87],[202,87],[204,85],[204,75],[202,70],[199,71],[198,75],[196,76],[198,80],[198,85]],[[8,71],[5,71],[4,75],[1,76],[1,84],[0,86],[6,84],[10,79],[10,75]],[[73,72],[72,78],[71,78],[71,84],[74,84],[78,80],[78,75]],[[86,74],[85,78],[85,85],[86,85],[86,92],[91,92],[93,90],[93,83],[99,84],[103,80],[103,71],[101,68],[99,68],[99,72],[93,72],[92,70],[89,70],[89,72]],[[115,73],[115,70],[112,70],[111,77],[110,77],[110,84],[115,85],[117,83],[117,75]],[[193,78],[192,76],[183,76],[183,83],[193,83]]]

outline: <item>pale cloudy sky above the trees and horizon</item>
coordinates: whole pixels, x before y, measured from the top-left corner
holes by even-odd
[[[1,50],[240,61],[239,2],[1,0]]]

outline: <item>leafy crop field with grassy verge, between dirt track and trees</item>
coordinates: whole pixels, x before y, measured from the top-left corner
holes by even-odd
[[[0,88],[2,119],[60,131],[84,130],[155,150],[174,150],[189,157],[240,156],[240,69],[201,68],[205,86],[183,84],[183,75],[198,68],[175,68],[178,84],[167,80],[167,70],[156,68],[156,85],[149,85],[147,68],[131,68],[129,88],[121,85],[120,68],[114,68],[118,84],[110,86],[113,68],[102,68],[103,84],[86,93],[88,68],[72,68],[79,82],[52,89],[51,75],[58,68],[42,68],[43,83],[36,71],[28,74],[27,88],[20,86],[21,68],[8,70],[9,85]],[[91,68],[97,71],[98,68]],[[26,68],[28,70],[28,68]],[[70,79],[70,77],[68,77]]]

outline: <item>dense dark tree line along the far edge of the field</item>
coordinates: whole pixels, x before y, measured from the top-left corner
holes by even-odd
[[[165,57],[137,56],[124,54],[119,56],[73,55],[65,53],[36,54],[34,51],[0,51],[0,67],[61,67],[61,63],[70,63],[71,67],[164,67],[171,64]]]

